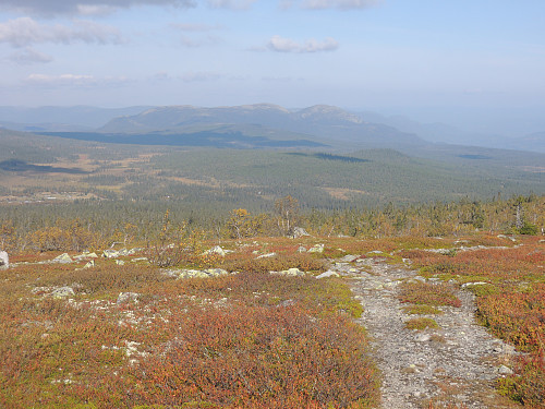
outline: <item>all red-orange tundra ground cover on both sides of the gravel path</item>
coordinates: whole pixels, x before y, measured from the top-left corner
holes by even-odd
[[[287,239],[256,237],[261,218],[233,217],[230,239],[219,229],[214,241],[209,232],[171,222],[168,213],[157,231],[144,233],[131,224],[102,231],[63,220],[27,237],[5,225],[2,240],[19,249],[10,260],[20,264],[0,269],[0,407],[375,407],[379,375],[366,334],[353,323],[362,306],[342,278],[314,278],[328,258],[344,255],[410,260],[423,277],[437,279],[400,284],[408,314],[458,308],[456,292],[468,285],[479,321],[528,353],[513,359],[514,374],[498,382],[499,390],[529,407],[545,405],[540,238],[423,232]],[[294,220],[274,221],[288,228]],[[137,256],[150,263],[100,258],[86,269],[76,269],[83,263],[38,264],[112,241],[142,246]],[[218,242],[232,252],[206,252]],[[320,251],[310,252],[316,244]],[[175,279],[161,269],[208,267],[231,274]],[[308,274],[269,274],[289,268]],[[62,288],[70,291],[58,292]],[[436,323],[411,317],[408,325]]]

